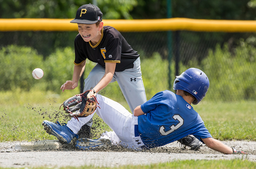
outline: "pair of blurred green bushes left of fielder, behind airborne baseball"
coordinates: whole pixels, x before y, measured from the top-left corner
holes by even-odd
[[[69,47],[58,48],[43,60],[43,56],[30,47],[11,45],[0,50],[0,59],[0,91],[20,88],[26,91],[40,89],[60,93],[60,86],[67,80],[72,80],[75,54]],[[85,72],[90,72],[94,65],[95,63],[87,61]],[[35,68],[44,71],[42,79],[32,77]]]

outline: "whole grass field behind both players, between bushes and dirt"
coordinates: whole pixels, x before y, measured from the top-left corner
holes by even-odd
[[[41,126],[42,121],[67,122],[70,117],[62,109],[62,102],[78,91],[65,91],[60,95],[52,92],[0,92],[0,142],[34,141],[55,139],[46,134]],[[16,98],[10,100],[9,98]],[[7,101],[8,100],[8,101]],[[116,99],[117,100],[117,99]],[[124,99],[119,99],[126,109],[129,107]],[[219,140],[252,140],[256,141],[256,116],[254,101],[209,102],[202,101],[193,106],[204,120],[206,128],[212,136]],[[94,127],[97,134],[110,131],[108,126],[94,116]]]

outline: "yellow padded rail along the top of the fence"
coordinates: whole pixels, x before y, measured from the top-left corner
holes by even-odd
[[[72,19],[0,19],[0,31],[77,31]],[[255,20],[206,20],[189,18],[103,20],[120,32],[198,31],[256,32]]]

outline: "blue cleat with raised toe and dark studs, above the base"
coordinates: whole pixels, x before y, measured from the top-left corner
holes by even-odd
[[[42,125],[44,126],[46,133],[57,137],[64,143],[70,143],[74,137],[78,138],[78,135],[73,133],[67,127],[66,123],[62,123],[62,125],[60,125],[59,121],[57,121],[57,123],[58,124],[45,120],[43,121]]]

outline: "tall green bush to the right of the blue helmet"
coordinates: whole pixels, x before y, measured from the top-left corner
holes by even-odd
[[[256,99],[256,49],[243,40],[229,52],[228,45],[209,51],[201,64],[210,80],[207,97],[223,101]]]

